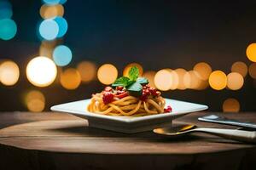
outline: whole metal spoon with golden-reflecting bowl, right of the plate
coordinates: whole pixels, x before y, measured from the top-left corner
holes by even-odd
[[[168,137],[180,137],[189,133],[210,133],[224,139],[232,139],[241,142],[256,143],[256,131],[246,131],[241,129],[224,129],[196,127],[195,125],[178,125],[176,127],[162,127],[153,130],[154,133]]]

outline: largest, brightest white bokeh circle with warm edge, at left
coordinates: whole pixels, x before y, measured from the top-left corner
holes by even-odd
[[[26,66],[26,77],[38,87],[47,87],[55,81],[57,67],[53,60],[39,56],[29,61]]]

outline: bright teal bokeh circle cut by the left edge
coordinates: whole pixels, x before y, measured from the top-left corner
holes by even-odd
[[[0,20],[0,38],[9,40],[15,37],[17,33],[17,26],[14,20],[3,19]]]

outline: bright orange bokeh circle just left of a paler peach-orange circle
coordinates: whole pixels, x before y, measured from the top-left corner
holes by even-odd
[[[223,71],[213,71],[209,77],[209,84],[215,90],[222,90],[227,85],[227,76]]]

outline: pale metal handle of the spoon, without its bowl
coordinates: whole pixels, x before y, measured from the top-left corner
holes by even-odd
[[[207,127],[198,127],[198,128],[192,129],[191,131],[211,133],[225,139],[233,139],[241,142],[256,143],[256,131],[245,131],[245,130],[224,129],[224,128],[207,128]]]

